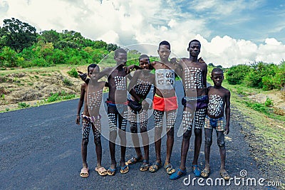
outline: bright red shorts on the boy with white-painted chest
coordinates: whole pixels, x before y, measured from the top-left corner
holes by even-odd
[[[177,97],[160,97],[155,94],[152,100],[153,110],[159,110],[162,112],[168,112],[170,110],[177,110]]]

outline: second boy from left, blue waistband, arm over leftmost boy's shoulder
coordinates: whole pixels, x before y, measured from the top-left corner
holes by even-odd
[[[117,120],[118,134],[120,137],[120,173],[125,174],[129,171],[128,163],[125,162],[126,151],[126,135],[125,127],[128,117],[128,102],[127,102],[127,74],[125,63],[127,62],[127,52],[120,48],[115,51],[114,59],[116,66],[105,68],[99,73],[98,78],[104,75],[108,77],[109,95],[106,101],[108,106],[108,120],[110,127],[109,149],[111,157],[111,165],[107,171],[108,175],[115,175],[116,160],[115,160],[115,140],[117,138]]]

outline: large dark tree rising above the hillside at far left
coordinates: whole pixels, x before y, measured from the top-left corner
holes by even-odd
[[[9,46],[17,53],[24,48],[30,47],[36,42],[36,28],[19,21],[19,19],[4,19],[4,26],[1,28],[0,38],[4,46]]]

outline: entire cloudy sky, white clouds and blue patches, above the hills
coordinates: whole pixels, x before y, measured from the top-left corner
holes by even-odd
[[[187,57],[197,38],[200,56],[223,67],[285,59],[285,1],[0,0],[0,25],[12,17],[38,32],[67,29],[121,47],[149,44],[154,48],[142,53],[154,56],[166,40],[172,57]]]

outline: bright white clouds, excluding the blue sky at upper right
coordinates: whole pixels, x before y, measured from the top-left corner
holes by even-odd
[[[180,1],[183,4],[184,1]],[[197,2],[197,4],[195,3]],[[212,10],[212,16],[230,15],[231,11],[254,9],[260,1],[252,5],[247,1],[192,1],[185,4],[188,10]],[[38,31],[54,29],[74,30],[86,38],[103,40],[128,46],[135,43],[148,44],[141,49],[142,53],[157,56],[154,51],[160,41],[169,41],[172,57],[188,57],[189,41],[197,38],[202,43],[200,56],[207,63],[230,67],[239,63],[254,60],[279,63],[285,58],[284,44],[275,38],[266,38],[257,45],[245,39],[234,39],[230,36],[215,36],[208,28],[208,18],[195,15],[195,11],[181,11],[174,1],[136,1],[136,0],[29,0],[1,1],[0,20],[14,17],[35,26]],[[206,11],[205,11],[206,10]],[[242,20],[244,18],[239,18]],[[237,21],[237,20],[235,20]],[[208,40],[206,39],[208,38]],[[150,48],[149,51],[146,49]]]

